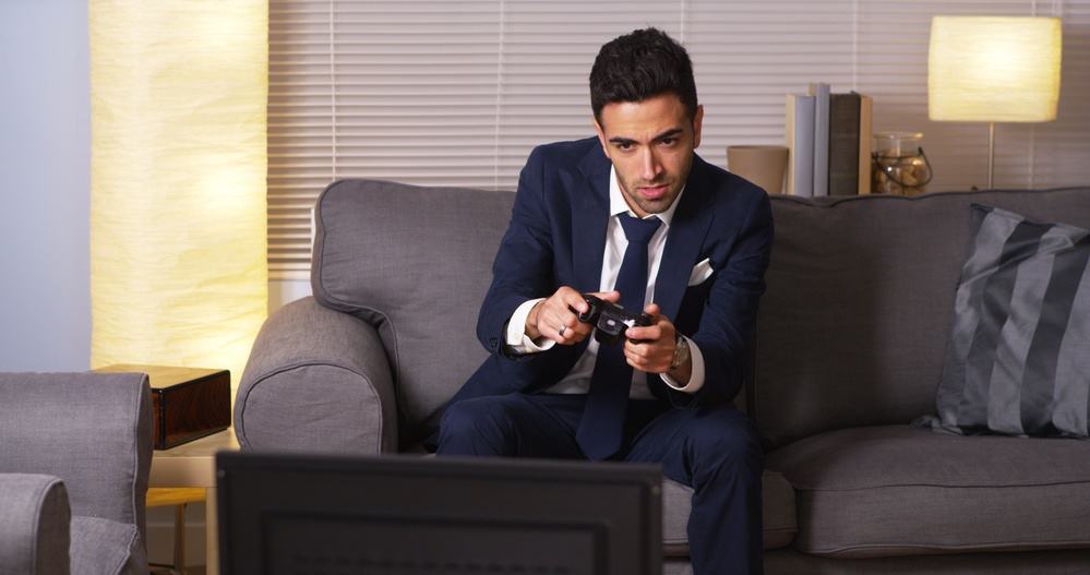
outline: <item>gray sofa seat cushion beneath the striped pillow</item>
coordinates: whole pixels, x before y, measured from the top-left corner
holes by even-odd
[[[806,553],[848,558],[1090,547],[1090,442],[846,429],[768,455]]]

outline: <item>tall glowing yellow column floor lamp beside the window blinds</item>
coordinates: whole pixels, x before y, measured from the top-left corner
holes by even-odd
[[[267,1],[91,0],[88,21],[92,368],[237,382],[268,306]]]

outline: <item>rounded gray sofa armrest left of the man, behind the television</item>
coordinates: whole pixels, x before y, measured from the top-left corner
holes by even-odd
[[[239,383],[235,433],[243,450],[396,452],[397,405],[379,333],[312,297],[274,312]]]

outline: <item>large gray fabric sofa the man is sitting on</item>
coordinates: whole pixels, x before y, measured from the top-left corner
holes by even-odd
[[[346,180],[318,201],[313,297],[277,310],[236,400],[243,450],[419,451],[484,358],[474,336],[514,195]],[[969,205],[1090,226],[1090,189],[772,199],[754,378],[767,573],[1073,573],[1090,442],[957,436],[935,411]],[[691,490],[666,481],[666,573]]]

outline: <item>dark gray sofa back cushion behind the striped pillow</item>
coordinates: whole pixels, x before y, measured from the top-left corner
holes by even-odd
[[[972,203],[1090,225],[1090,188],[774,196],[755,382],[766,440],[935,412]]]

